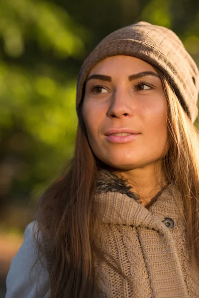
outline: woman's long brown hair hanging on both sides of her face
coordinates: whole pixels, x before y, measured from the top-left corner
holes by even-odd
[[[168,101],[169,149],[162,166],[168,182],[182,194],[179,209],[187,248],[192,265],[199,269],[199,134],[163,74],[156,71]],[[96,297],[94,260],[97,254],[105,259],[96,245],[94,196],[100,165],[89,146],[82,105],[78,117],[74,157],[43,194],[36,215],[43,242],[36,239],[48,262],[52,298]],[[122,274],[116,265],[115,269]]]

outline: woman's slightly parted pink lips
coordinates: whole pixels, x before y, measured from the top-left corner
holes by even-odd
[[[119,133],[129,133],[130,135],[127,135],[127,136],[112,135],[112,134],[119,134]],[[110,128],[107,131],[105,131],[104,135],[105,135],[105,139],[111,143],[127,143],[137,138],[137,136],[140,135],[140,133],[135,132],[128,128],[120,128],[120,129]]]

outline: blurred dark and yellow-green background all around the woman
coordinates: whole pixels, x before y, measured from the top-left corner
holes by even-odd
[[[198,0],[0,0],[1,284],[40,195],[73,152],[84,59],[140,20],[174,30],[199,66]]]

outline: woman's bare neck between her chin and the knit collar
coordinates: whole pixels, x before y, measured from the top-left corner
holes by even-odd
[[[144,207],[152,204],[156,195],[167,185],[161,163],[117,171],[116,175],[128,181],[127,185],[131,186],[132,191],[139,195],[139,201]]]

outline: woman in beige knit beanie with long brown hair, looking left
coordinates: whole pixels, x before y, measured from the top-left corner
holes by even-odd
[[[74,157],[26,227],[6,298],[199,297],[198,92],[171,30],[138,22],[100,42],[79,74]]]

